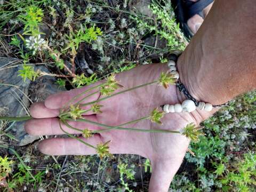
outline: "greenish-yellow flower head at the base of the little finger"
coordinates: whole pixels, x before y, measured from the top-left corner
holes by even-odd
[[[100,93],[102,95],[110,95],[111,93],[116,91],[120,86],[121,85],[119,85],[115,79],[115,75],[111,74],[107,77],[107,82],[105,83],[105,85],[100,88]]]

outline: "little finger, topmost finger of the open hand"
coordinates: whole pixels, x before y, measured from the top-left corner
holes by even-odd
[[[67,102],[69,102],[71,99],[73,99],[74,97],[76,97],[76,95],[86,91],[87,89],[90,89],[93,86],[97,86],[100,85],[102,83],[102,81],[99,81],[97,83],[94,83],[92,85],[89,86],[84,86],[81,89],[74,89],[74,90],[70,90],[70,91],[64,91],[64,92],[60,92],[60,93],[56,93],[56,94],[52,94],[50,95],[44,102],[45,107],[49,108],[49,109],[60,109],[61,107],[65,106],[65,104]],[[94,92],[96,92],[98,89],[93,89],[90,90],[89,92],[86,92],[84,94],[84,97],[86,95],[92,94]],[[91,101],[95,101],[100,97],[100,93],[98,92],[97,94],[93,94],[91,95],[89,98],[87,98],[85,101],[83,101],[82,103],[85,102],[91,102]],[[81,100],[83,97],[80,97],[78,99],[75,99],[73,102],[71,103],[76,103],[77,101]]]

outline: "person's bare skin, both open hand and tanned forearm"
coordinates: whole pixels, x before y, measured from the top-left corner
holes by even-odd
[[[245,0],[243,3],[239,0],[233,0],[232,3],[215,0],[203,25],[178,60],[180,80],[197,100],[217,105],[256,88],[255,18],[256,5],[252,0]],[[123,89],[126,89],[154,81],[162,71],[167,70],[165,64],[139,66],[117,74],[116,79],[124,86]],[[26,131],[33,135],[63,134],[57,119],[59,109],[89,87],[50,95],[44,102],[34,103],[30,114],[35,119],[26,123]],[[94,95],[86,102],[99,97],[99,94]],[[175,86],[165,90],[162,86],[149,85],[100,102],[99,104],[103,105],[103,113],[87,113],[84,118],[107,125],[119,125],[149,115],[155,107],[165,103],[174,104],[183,100],[184,95],[177,91]],[[188,123],[198,125],[215,111],[217,109],[210,113],[200,110],[192,113],[170,113],[164,116],[163,125],[144,120],[129,127],[180,131]],[[101,129],[82,122],[75,122],[73,125],[79,129]],[[65,126],[64,129],[77,133]],[[180,134],[121,130],[81,139],[94,146],[99,142],[111,140],[110,153],[137,154],[149,158],[153,168],[150,192],[169,189],[189,145],[189,139]],[[42,153],[49,155],[95,154],[94,149],[72,138],[46,139],[41,141],[38,148]]]

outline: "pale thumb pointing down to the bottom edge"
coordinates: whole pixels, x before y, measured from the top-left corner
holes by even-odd
[[[171,181],[178,171],[182,159],[172,158],[172,159],[157,159],[151,162],[152,174],[149,182],[149,192],[167,192]]]

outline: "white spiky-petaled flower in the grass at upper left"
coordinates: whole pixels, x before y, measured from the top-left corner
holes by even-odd
[[[30,36],[29,39],[26,39],[26,47],[30,50],[33,50],[33,55],[37,51],[42,51],[46,49],[47,42],[41,38],[41,35]]]

